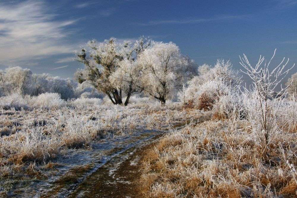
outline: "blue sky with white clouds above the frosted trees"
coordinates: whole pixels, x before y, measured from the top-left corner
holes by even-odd
[[[245,53],[297,63],[297,0],[270,1],[6,1],[0,0],[0,69],[72,77],[73,51],[88,40],[135,40],[141,35],[176,43],[197,64]],[[291,72],[296,72],[297,68]]]

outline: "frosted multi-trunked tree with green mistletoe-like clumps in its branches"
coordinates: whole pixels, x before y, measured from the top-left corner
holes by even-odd
[[[88,52],[82,47],[75,52],[76,60],[85,65],[83,70],[75,72],[75,79],[82,83],[88,81],[98,91],[105,93],[113,104],[122,104],[122,95],[126,95],[124,105],[137,91],[139,70],[135,60],[143,50],[150,46],[151,40],[140,38],[135,43],[118,43],[110,38],[102,43],[91,40],[87,43]]]

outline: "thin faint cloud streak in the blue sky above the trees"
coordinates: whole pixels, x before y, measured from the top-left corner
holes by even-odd
[[[138,25],[160,25],[160,24],[193,24],[193,23],[202,23],[208,21],[219,21],[225,19],[237,19],[243,18],[245,15],[238,15],[238,16],[217,16],[213,18],[191,18],[191,19],[170,19],[170,20],[159,20],[159,21],[149,21],[148,23],[137,23]]]

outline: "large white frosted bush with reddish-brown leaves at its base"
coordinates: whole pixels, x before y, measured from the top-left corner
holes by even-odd
[[[217,60],[214,67],[206,64],[198,68],[198,76],[188,82],[188,87],[179,93],[180,101],[199,109],[209,110],[219,100],[240,84],[238,72],[230,61]]]

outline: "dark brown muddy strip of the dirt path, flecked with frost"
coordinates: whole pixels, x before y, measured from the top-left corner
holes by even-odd
[[[199,122],[207,119],[199,119]],[[179,124],[175,127],[182,127],[183,125]],[[140,160],[146,150],[153,147],[160,137],[162,137],[162,134],[112,158],[80,183],[78,188],[68,197],[139,197],[135,179],[141,174],[139,169]]]

